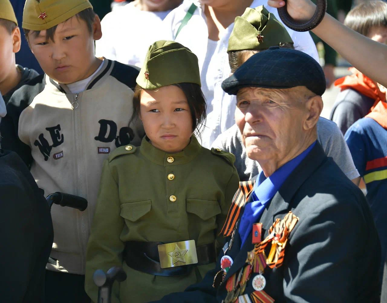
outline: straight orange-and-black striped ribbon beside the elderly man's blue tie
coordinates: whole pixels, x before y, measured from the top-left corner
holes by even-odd
[[[253,190],[254,184],[254,180],[239,182],[239,189],[235,193],[230,210],[228,211],[226,222],[224,222],[220,232],[224,237],[228,237],[233,232],[235,224],[241,214],[241,210],[245,206],[248,196]]]

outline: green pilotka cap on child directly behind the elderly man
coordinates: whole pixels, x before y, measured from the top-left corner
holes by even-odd
[[[288,31],[263,5],[248,7],[235,18],[227,51],[268,49],[280,43],[293,43]]]

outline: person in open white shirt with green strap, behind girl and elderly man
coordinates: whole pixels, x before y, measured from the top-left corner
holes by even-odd
[[[188,23],[180,28],[192,3],[197,5],[197,9]],[[164,32],[158,38],[182,43],[199,59],[202,90],[207,100],[207,123],[202,133],[204,147],[210,147],[220,133],[235,123],[235,96],[226,94],[221,88],[222,81],[230,75],[227,46],[234,19],[241,16],[246,7],[255,8],[266,3],[267,0],[184,0],[163,21]],[[267,7],[267,10],[280,20],[277,9]],[[179,28],[180,32],[176,36]],[[297,50],[319,60],[308,32],[286,29]]]

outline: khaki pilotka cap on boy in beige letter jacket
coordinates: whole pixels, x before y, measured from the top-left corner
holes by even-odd
[[[22,28],[44,31],[88,8],[92,5],[87,0],[27,0]]]

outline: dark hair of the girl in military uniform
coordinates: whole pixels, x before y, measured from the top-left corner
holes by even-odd
[[[180,88],[188,101],[192,117],[192,132],[200,137],[202,127],[205,124],[207,104],[200,88],[200,85],[196,83],[176,83],[172,84]],[[130,118],[130,123],[140,116],[140,99],[143,89],[137,84],[134,89],[133,96],[133,114]]]

